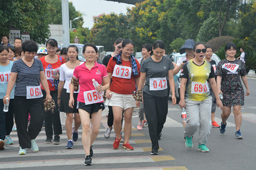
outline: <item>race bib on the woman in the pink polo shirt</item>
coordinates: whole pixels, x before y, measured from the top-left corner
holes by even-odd
[[[86,105],[103,102],[103,95],[99,95],[96,89],[90,90],[90,91],[84,91],[83,97]]]

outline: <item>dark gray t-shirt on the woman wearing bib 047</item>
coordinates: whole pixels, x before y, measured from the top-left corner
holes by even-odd
[[[158,86],[165,86],[167,87],[167,78],[168,78],[168,70],[174,69],[174,65],[172,60],[168,57],[163,57],[160,62],[155,62],[152,57],[147,58],[142,62],[140,71],[146,72],[146,82],[143,88],[143,92],[163,97],[168,95],[167,88],[164,90],[150,90],[150,79],[152,78],[166,78],[165,81],[157,82],[155,85]]]

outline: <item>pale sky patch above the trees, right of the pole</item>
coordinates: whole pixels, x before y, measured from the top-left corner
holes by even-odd
[[[102,13],[110,14],[111,12],[126,14],[126,8],[134,6],[131,4],[103,0],[69,0],[69,2],[73,2],[73,6],[77,11],[86,14],[83,15],[83,27],[88,27],[89,29],[93,27],[93,16],[98,16]]]

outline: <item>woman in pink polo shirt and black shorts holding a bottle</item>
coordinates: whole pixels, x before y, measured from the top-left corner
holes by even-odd
[[[86,58],[86,62],[75,68],[70,84],[69,106],[71,108],[74,106],[73,93],[75,86],[78,86],[78,82],[80,85],[77,105],[82,123],[82,144],[84,152],[86,153],[84,165],[92,164],[92,143],[98,135],[101,123],[101,112],[105,108],[103,96],[100,95],[100,92],[108,89],[110,86],[105,66],[95,62],[97,52],[97,47],[94,44],[84,44],[83,56]],[[92,79],[95,79],[99,84],[96,89]],[[92,128],[90,127],[90,122]]]

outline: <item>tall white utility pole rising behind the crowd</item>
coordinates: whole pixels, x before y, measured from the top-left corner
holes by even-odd
[[[68,0],[61,0],[61,9],[62,9],[63,47],[68,47],[70,43],[69,1]]]

